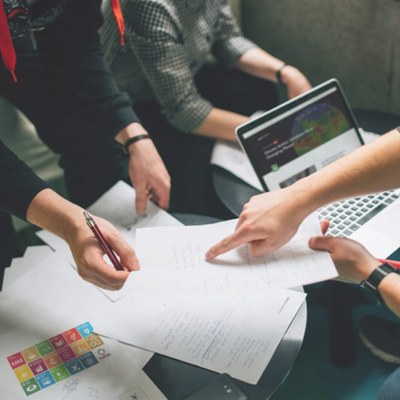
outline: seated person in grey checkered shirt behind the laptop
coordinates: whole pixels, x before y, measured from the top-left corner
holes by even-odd
[[[123,48],[112,2],[104,3],[105,57],[171,175],[171,210],[231,217],[212,185],[215,139],[236,141],[238,125],[275,106],[277,81],[289,97],[310,83],[246,39],[226,0],[123,0],[121,8]]]

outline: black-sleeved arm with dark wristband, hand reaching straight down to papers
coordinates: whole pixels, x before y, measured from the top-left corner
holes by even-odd
[[[99,1],[71,0],[56,22],[40,33],[40,44],[49,62],[59,66],[55,70],[61,73],[60,91],[85,110],[94,133],[124,143],[145,130],[105,63],[98,34],[102,22]],[[145,212],[147,198],[168,208],[169,175],[150,140],[130,147],[129,175],[137,192],[139,214]]]

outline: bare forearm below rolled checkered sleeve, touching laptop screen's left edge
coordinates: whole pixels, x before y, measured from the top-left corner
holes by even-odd
[[[213,108],[204,122],[193,133],[215,139],[236,141],[235,129],[249,120],[249,117],[231,111]]]

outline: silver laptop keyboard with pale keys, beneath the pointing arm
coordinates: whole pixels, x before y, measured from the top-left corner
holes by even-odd
[[[375,193],[329,204],[318,213],[329,220],[330,235],[347,237],[398,198],[394,191]]]

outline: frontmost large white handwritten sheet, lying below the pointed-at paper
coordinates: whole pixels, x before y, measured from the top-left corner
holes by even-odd
[[[304,298],[284,289],[207,297],[132,293],[103,310],[114,310],[112,327],[101,320],[96,326],[123,343],[256,384]]]

